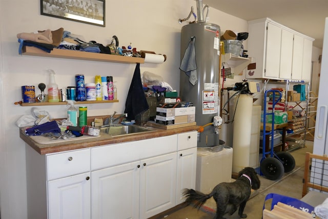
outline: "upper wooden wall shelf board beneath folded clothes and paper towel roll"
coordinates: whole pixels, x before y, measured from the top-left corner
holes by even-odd
[[[68,49],[53,49],[50,53],[31,46],[22,48],[22,55],[54,57],[54,58],[70,58],[78,60],[88,60],[97,62],[112,62],[112,63],[145,63],[145,58],[129,57],[124,55],[110,55],[104,53],[75,51]]]

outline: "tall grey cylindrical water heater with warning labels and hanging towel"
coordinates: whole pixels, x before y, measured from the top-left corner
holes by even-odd
[[[196,2],[198,17],[191,7],[189,17],[193,14],[195,21],[181,29],[180,97],[196,107],[195,121],[203,127],[198,131],[197,147],[205,148],[220,145],[220,27],[204,21],[205,7],[202,7],[202,1]],[[179,22],[189,17],[179,19]]]

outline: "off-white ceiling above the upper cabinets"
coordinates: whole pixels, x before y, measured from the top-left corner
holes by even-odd
[[[313,46],[322,49],[327,0],[203,0],[202,3],[246,21],[269,17],[315,38]]]

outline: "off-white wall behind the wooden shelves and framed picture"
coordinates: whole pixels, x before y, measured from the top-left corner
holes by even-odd
[[[36,30],[56,30],[63,27],[83,35],[87,41],[107,45],[113,35],[120,46],[151,50],[166,54],[165,63],[142,64],[141,73],[150,71],[161,75],[174,89],[179,90],[180,30],[178,18],[185,18],[194,0],[121,0],[106,1],[106,27],[98,27],[65,19],[40,15],[39,0],[0,0],[0,207],[2,219],[27,218],[25,143],[18,136],[16,120],[30,114],[31,107],[14,105],[22,95],[20,86],[48,84],[47,69],[56,72],[59,87],[73,86],[74,75],[84,74],[86,83],[94,76],[112,75],[117,81],[119,103],[91,104],[88,115],[123,112],[135,65],[74,61],[71,59],[18,55],[16,34]],[[210,23],[237,32],[247,31],[247,22],[210,8]],[[185,23],[187,24],[187,23]],[[243,76],[238,76],[239,79]],[[230,82],[229,82],[230,83]],[[53,117],[65,117],[65,106],[44,106]]]

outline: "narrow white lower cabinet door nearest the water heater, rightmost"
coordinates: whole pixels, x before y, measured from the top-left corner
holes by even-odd
[[[177,156],[176,205],[185,201],[183,189],[196,187],[197,148],[178,151]]]

